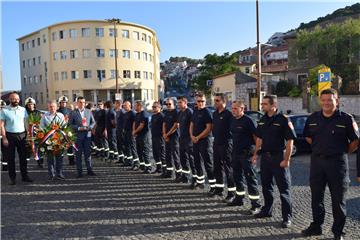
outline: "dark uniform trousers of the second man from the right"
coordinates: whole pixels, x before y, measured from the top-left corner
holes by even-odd
[[[264,207],[262,211],[272,214],[274,202],[274,184],[280,192],[281,213],[284,220],[292,217],[292,204],[290,195],[291,177],[290,169],[280,167],[280,162],[284,158],[284,153],[281,152],[263,152],[261,154],[260,170],[261,170],[261,185],[264,195]]]

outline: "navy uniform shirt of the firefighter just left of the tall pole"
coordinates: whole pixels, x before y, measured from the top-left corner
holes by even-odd
[[[240,118],[233,117],[230,129],[234,153],[250,150],[255,144],[253,135],[256,132],[256,123],[251,117],[245,114]]]

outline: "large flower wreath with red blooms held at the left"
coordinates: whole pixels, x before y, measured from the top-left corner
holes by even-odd
[[[38,152],[41,155],[48,153],[59,155],[70,147],[77,150],[74,144],[75,134],[64,121],[53,121],[44,128],[35,128],[32,136],[35,159],[38,158]]]

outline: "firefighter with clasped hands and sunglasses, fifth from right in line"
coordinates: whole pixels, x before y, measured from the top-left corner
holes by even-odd
[[[207,173],[210,191],[213,191],[216,180],[214,178],[214,163],[211,149],[212,117],[209,109],[206,108],[206,98],[202,93],[196,95],[197,110],[191,118],[190,137],[194,144],[194,163],[196,168],[196,186],[204,187],[205,176],[202,169],[202,161]]]

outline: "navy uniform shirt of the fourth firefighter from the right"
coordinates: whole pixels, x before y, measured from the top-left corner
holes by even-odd
[[[231,140],[230,125],[233,116],[228,109],[221,113],[217,110],[213,113],[213,136],[215,144],[223,144]]]

